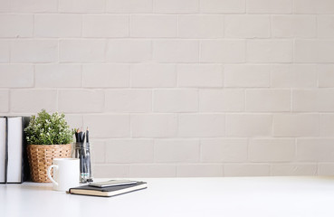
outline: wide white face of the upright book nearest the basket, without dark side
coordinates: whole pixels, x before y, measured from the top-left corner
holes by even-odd
[[[7,183],[22,182],[23,165],[23,118],[8,118],[8,167]]]

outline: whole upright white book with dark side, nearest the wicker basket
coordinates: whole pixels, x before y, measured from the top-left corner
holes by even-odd
[[[5,183],[23,183],[29,176],[24,127],[29,117],[7,117]]]

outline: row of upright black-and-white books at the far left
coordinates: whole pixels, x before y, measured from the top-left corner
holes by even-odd
[[[29,117],[0,118],[0,183],[23,183],[29,176],[24,127]]]

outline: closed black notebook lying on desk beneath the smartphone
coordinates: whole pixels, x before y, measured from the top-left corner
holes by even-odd
[[[80,187],[70,188],[69,193],[110,197],[110,196],[116,196],[116,195],[123,194],[123,193],[138,191],[141,189],[145,189],[147,187],[148,187],[148,184],[144,182],[137,182],[136,184],[110,186],[110,187],[103,187],[103,188],[83,185]]]

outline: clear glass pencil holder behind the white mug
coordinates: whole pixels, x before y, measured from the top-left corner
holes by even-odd
[[[77,142],[73,149],[72,157],[80,159],[80,182],[92,182],[91,144]]]

